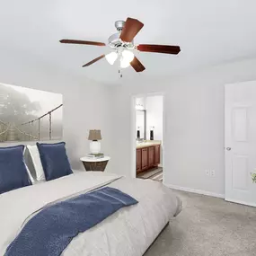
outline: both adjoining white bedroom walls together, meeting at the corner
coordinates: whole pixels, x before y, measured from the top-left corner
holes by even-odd
[[[24,53],[25,54],[25,53]],[[87,132],[102,129],[108,170],[131,175],[133,95],[164,93],[164,181],[175,186],[224,193],[224,84],[256,80],[256,59],[216,66],[190,75],[145,81],[143,75],[120,86],[96,84],[51,69],[34,58],[1,53],[0,82],[64,95],[64,140],[74,168],[89,151]],[[67,73],[68,74],[68,73]],[[216,177],[205,175],[215,169]]]

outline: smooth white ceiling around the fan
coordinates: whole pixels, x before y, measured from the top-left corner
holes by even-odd
[[[108,47],[60,44],[61,39],[107,42],[114,22],[128,16],[144,22],[138,43],[180,45],[179,56],[137,53],[146,71],[129,67],[128,77],[173,75],[202,66],[256,57],[255,0],[0,0],[0,62],[19,51],[75,75],[113,84],[118,67],[102,59]]]

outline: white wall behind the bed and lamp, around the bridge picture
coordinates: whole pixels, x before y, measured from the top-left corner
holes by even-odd
[[[17,52],[1,56],[0,83],[63,94],[63,139],[72,167],[83,170],[79,158],[89,152],[89,129],[102,130],[102,151],[112,155],[111,87],[67,74]]]

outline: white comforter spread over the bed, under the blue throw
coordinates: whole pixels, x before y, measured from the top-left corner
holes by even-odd
[[[64,256],[141,256],[170,218],[181,211],[181,201],[160,182],[102,172],[72,174],[0,195],[0,255],[41,207],[104,185],[128,193],[139,203],[79,234]]]

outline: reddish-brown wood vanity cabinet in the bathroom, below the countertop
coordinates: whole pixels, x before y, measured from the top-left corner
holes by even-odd
[[[136,170],[145,172],[160,163],[160,145],[137,148]]]

